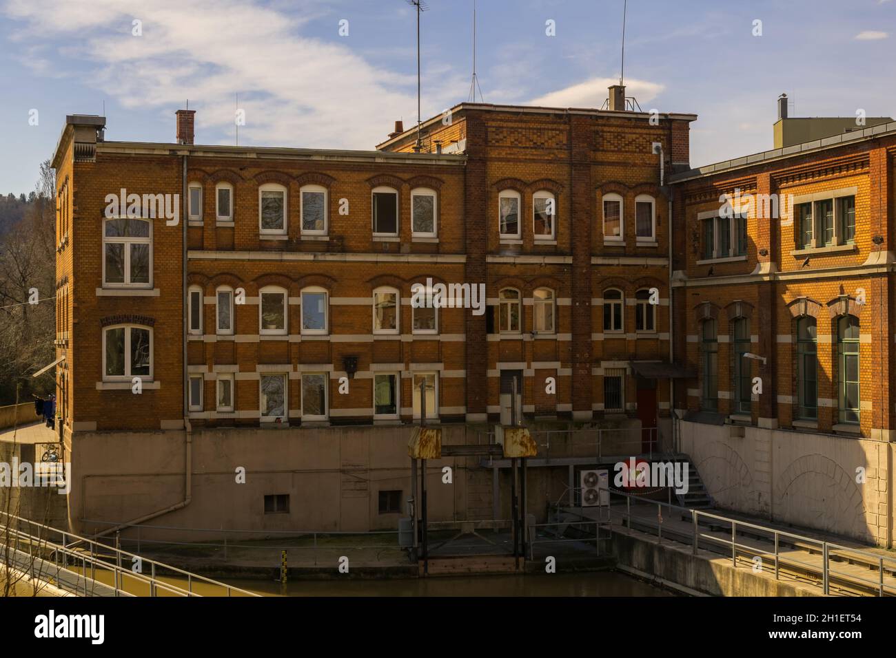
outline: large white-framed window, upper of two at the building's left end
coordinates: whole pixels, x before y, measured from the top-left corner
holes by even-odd
[[[120,217],[103,224],[103,286],[151,287],[151,222]]]

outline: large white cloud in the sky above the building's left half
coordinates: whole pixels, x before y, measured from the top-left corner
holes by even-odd
[[[303,35],[308,21],[329,15],[328,3],[294,4],[279,11],[237,0],[10,0],[4,10],[22,21],[20,40],[86,60],[93,71],[84,79],[125,108],[168,112],[189,98],[197,141],[210,127],[233,134],[237,93],[246,110],[241,143],[372,149],[395,119],[412,124],[416,76],[370,64],[350,36],[337,36],[335,17],[331,39]],[[134,19],[142,37],[131,34]],[[454,78],[442,72],[437,86],[425,84],[424,117],[459,99],[445,91],[463,89]],[[172,139],[173,131],[172,119]],[[114,126],[109,132],[128,139]]]

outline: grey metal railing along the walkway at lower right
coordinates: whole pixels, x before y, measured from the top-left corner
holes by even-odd
[[[883,556],[871,551],[863,551],[861,549],[851,548],[839,543],[826,542],[821,539],[806,537],[802,534],[789,533],[777,528],[762,526],[748,521],[737,520],[736,518],[724,517],[712,512],[703,511],[701,509],[684,508],[678,505],[662,502],[659,500],[646,500],[640,496],[624,493],[621,491],[609,491],[612,497],[625,498],[625,511],[620,512],[623,517],[625,527],[632,529],[633,521],[637,526],[656,528],[659,543],[663,541],[663,509],[667,510],[667,517],[690,517],[690,531],[685,533],[685,539],[691,544],[692,552],[697,555],[701,548],[701,540],[703,548],[709,543],[712,547],[723,548],[725,553],[731,556],[731,564],[737,568],[738,556],[766,556],[774,560],[773,569],[769,568],[771,573],[773,570],[776,580],[780,579],[781,567],[801,570],[804,573],[817,575],[821,580],[824,594],[831,593],[831,577],[836,577],[837,581],[842,585],[855,586],[857,584],[864,585],[869,590],[876,590],[878,596],[884,594],[896,594],[896,581],[891,584],[884,582],[884,577],[889,573],[891,577],[896,576],[896,559]],[[632,514],[632,506],[650,506],[657,510],[656,520],[652,517],[644,517]],[[717,534],[708,534],[702,532],[701,525],[710,526],[730,526],[730,536],[722,537]],[[759,535],[760,542],[771,543],[771,550],[763,549],[761,546],[747,544],[738,541],[738,531],[743,536],[745,534]],[[718,532],[718,531],[717,531]],[[681,528],[669,529],[667,531],[668,541],[677,541],[672,536],[681,536]],[[671,535],[671,536],[670,536]],[[781,544],[789,545],[797,550],[806,551],[809,555],[817,552],[821,555],[821,564],[806,560],[797,560],[793,555],[782,556],[780,549]],[[831,563],[838,564],[838,560],[847,560],[850,562],[859,562],[874,570],[876,568],[876,578],[859,577],[855,573],[848,573],[841,569],[833,568]],[[759,568],[766,570],[764,561],[760,560]],[[755,564],[754,564],[755,567]]]

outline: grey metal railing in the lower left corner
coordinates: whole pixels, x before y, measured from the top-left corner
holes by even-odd
[[[57,536],[59,540],[52,541],[51,537],[54,536]],[[28,550],[27,555],[22,550],[23,546]],[[11,554],[11,551],[15,551],[15,554]],[[159,593],[174,596],[259,595],[212,578],[199,576],[185,569],[122,551],[117,546],[108,546],[78,534],[45,526],[5,512],[0,512],[0,554],[4,558],[4,563],[9,563],[13,559],[19,562],[23,559],[28,560],[32,577],[38,579],[51,576],[49,570],[44,572],[43,566],[52,563],[56,583],[69,582],[69,577],[63,572],[74,574],[77,578],[73,593],[82,593],[85,596],[93,594],[97,585],[109,587],[115,596],[136,595],[133,591],[126,589],[128,585],[131,587],[136,585],[138,589],[147,591],[150,596],[158,596]],[[41,566],[38,573],[34,573],[35,564]],[[80,571],[78,571],[79,568]],[[149,568],[149,574],[144,572],[145,568]],[[160,572],[169,577],[185,580],[186,588],[162,580]],[[88,577],[88,573],[90,573],[90,577]],[[103,575],[109,576],[111,585],[99,579]],[[83,585],[81,585],[82,580]],[[194,591],[194,585],[210,588],[210,593],[199,594]]]

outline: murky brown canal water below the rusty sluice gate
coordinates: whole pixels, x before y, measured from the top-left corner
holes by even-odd
[[[227,580],[265,596],[673,596],[617,571],[383,580]]]

